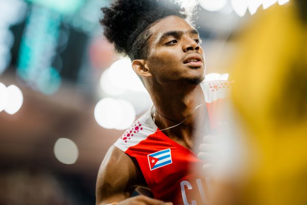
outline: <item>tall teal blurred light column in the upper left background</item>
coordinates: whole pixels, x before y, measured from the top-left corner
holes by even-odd
[[[20,43],[17,75],[33,89],[48,95],[55,93],[61,84],[58,71],[51,67],[61,18],[58,12],[34,5]]]

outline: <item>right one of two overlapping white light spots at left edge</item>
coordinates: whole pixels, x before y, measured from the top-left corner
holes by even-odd
[[[15,86],[10,85],[7,88],[8,101],[4,110],[9,114],[15,114],[23,105],[24,96],[21,90]]]

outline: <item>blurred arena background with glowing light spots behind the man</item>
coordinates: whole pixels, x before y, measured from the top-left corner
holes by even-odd
[[[151,107],[102,35],[109,2],[0,0],[0,204],[94,204],[104,154]],[[253,15],[288,2],[199,0],[206,80],[228,79]]]

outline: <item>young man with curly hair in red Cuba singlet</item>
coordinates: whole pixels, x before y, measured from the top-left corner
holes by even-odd
[[[206,203],[208,181],[198,173],[204,161],[195,154],[195,139],[217,127],[214,105],[227,83],[202,83],[199,34],[180,5],[117,0],[102,11],[104,35],[130,57],[154,106],[109,148],[97,177],[96,204]],[[150,190],[155,199],[129,198],[136,189]]]

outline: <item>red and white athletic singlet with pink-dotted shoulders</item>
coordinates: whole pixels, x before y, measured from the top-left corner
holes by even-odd
[[[230,84],[220,80],[201,84],[211,130],[218,129],[218,113]],[[206,204],[210,181],[191,170],[197,167],[200,169],[195,170],[201,170],[203,161],[159,131],[150,111],[136,120],[114,145],[137,160],[154,198],[174,205]]]

